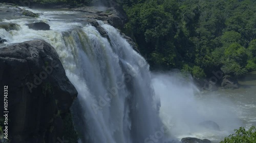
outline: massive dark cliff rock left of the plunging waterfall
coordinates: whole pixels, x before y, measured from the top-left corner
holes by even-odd
[[[50,44],[34,40],[0,48],[0,87],[5,85],[11,142],[56,143],[62,138],[62,120],[77,91]]]

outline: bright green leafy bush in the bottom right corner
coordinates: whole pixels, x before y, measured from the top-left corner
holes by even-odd
[[[248,131],[244,127],[234,130],[236,133],[225,137],[220,143],[255,143],[256,127],[252,126]]]

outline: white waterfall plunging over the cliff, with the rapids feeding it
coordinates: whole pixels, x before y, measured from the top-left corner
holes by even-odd
[[[28,19],[12,19],[5,22],[19,24],[19,30],[0,33],[7,44],[42,39],[56,49],[78,91],[72,113],[79,142],[163,142],[149,66],[114,27],[98,21],[107,39],[90,24],[39,20],[51,30],[34,31]]]

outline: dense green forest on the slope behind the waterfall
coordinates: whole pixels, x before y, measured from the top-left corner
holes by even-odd
[[[153,69],[212,71],[240,77],[256,70],[256,2],[124,0],[124,31]]]

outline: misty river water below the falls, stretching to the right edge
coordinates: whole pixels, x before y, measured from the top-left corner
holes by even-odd
[[[243,126],[256,125],[256,72],[240,79],[236,90],[200,92],[193,83],[175,73],[153,74],[153,86],[160,96],[160,116],[163,121],[171,119],[170,137],[207,138],[220,142]],[[204,121],[216,122],[220,130],[198,126]]]

